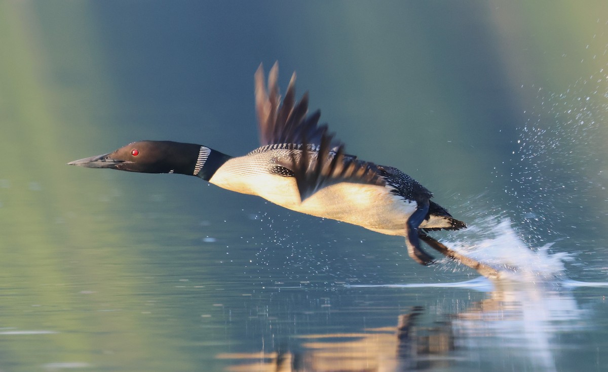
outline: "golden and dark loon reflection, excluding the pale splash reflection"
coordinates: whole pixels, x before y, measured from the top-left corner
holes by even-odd
[[[302,353],[219,354],[220,359],[248,360],[229,371],[404,371],[449,365],[454,335],[449,322],[419,325],[424,314],[416,306],[399,315],[398,326],[367,328],[360,333],[299,336]],[[426,367],[423,367],[426,366]]]

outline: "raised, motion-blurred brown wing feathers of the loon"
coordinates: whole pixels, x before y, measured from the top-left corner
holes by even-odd
[[[262,147],[258,150],[288,150],[288,156],[275,159],[283,176],[295,177],[302,201],[323,187],[340,182],[385,185],[378,167],[344,154],[344,143],[328,133],[326,124],[319,125],[320,111],[308,115],[308,94],[295,102],[295,73],[289,81],[285,98],[277,85],[278,64],[268,76],[260,65],[255,72],[255,106]]]

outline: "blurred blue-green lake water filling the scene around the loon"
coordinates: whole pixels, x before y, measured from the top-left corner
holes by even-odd
[[[571,3],[1,2],[0,370],[608,370],[608,11]],[[502,278],[65,165],[141,139],[247,153],[275,60]]]

